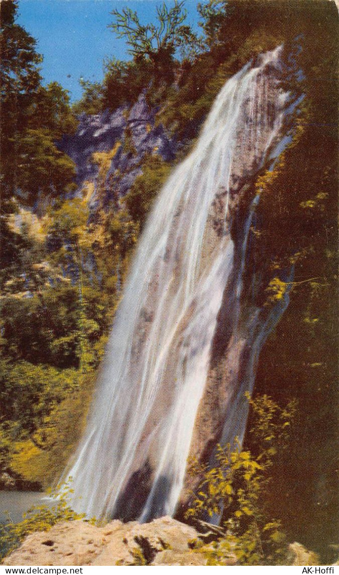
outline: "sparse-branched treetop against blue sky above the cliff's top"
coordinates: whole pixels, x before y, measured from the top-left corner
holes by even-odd
[[[130,62],[115,58],[104,63],[103,86],[84,83],[84,94],[75,110],[89,112],[95,102],[96,109],[116,109],[123,104],[133,104],[142,89],[149,88],[149,97],[155,105],[163,100],[164,86],[175,78],[179,50],[185,60],[194,59],[200,41],[189,25],[184,24],[184,2],[175,0],[174,6],[165,3],[157,6],[156,22],[141,24],[137,12],[128,7],[111,12],[114,21],[108,25],[116,36],[126,40]],[[165,89],[166,91],[166,89]]]

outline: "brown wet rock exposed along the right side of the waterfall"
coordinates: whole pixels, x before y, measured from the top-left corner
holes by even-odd
[[[256,64],[260,64],[260,59]],[[269,317],[267,309],[256,307],[251,298],[248,298],[246,305],[240,300],[246,289],[243,274],[250,227],[254,224],[251,214],[255,212],[255,202],[259,202],[259,196],[254,200],[256,178],[262,168],[271,169],[284,150],[284,145],[279,147],[278,144],[284,137],[286,139],[285,134],[291,128],[290,95],[280,87],[281,69],[280,58],[274,65],[263,62],[262,70],[256,77],[254,97],[244,102],[239,113],[235,153],[229,174],[227,216],[235,244],[235,258],[217,317],[208,376],[194,422],[189,453],[189,458],[205,464],[213,464],[217,443],[232,444],[235,437],[242,441],[248,413],[244,392],[252,392],[258,354],[270,329],[283,313],[283,308],[277,308]],[[285,145],[289,141],[286,140]],[[209,250],[220,241],[223,202],[224,193],[220,190],[209,213],[206,230]],[[252,279],[255,285],[255,277]],[[202,480],[202,475],[186,473],[175,514],[178,519],[185,516],[192,493]]]

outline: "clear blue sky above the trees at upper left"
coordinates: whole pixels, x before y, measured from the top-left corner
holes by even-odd
[[[107,28],[114,8],[129,6],[142,21],[154,19],[157,0],[19,0],[18,24],[37,40],[44,56],[44,83],[57,81],[69,90],[72,101],[80,98],[79,78],[100,81],[105,57],[127,56],[122,39]],[[160,2],[162,3],[162,2]],[[168,6],[173,1],[166,2]],[[195,0],[186,0],[187,22],[197,29]],[[71,76],[71,77],[69,77]]]

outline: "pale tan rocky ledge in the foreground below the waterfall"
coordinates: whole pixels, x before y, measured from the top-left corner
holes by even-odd
[[[201,534],[172,517],[143,524],[114,520],[101,527],[79,520],[28,535],[3,564],[206,565],[215,536],[213,528]],[[317,555],[300,543],[289,546],[289,555],[289,565],[318,563]],[[236,565],[235,555],[229,555],[227,564]]]

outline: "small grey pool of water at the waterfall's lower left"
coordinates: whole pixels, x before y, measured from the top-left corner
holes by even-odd
[[[23,513],[28,511],[32,505],[52,505],[55,501],[50,500],[41,491],[1,491],[0,490],[0,522],[6,523],[7,511],[10,519],[18,523],[22,519]]]

